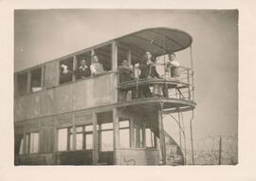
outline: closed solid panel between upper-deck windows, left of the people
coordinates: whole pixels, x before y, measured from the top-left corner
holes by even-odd
[[[45,65],[45,87],[50,88],[58,84],[58,62],[46,63]]]

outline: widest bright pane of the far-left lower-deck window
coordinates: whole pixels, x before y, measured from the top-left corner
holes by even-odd
[[[26,154],[36,154],[39,151],[39,133],[26,135]]]

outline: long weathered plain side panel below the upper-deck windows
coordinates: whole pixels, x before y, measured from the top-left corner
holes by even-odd
[[[15,121],[64,114],[115,103],[116,75],[76,81],[14,100]]]

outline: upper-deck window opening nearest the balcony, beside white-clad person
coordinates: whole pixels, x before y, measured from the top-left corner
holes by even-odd
[[[94,55],[98,57],[99,63],[103,66],[103,71],[101,71],[101,73],[112,70],[112,45],[104,45],[94,49]],[[93,64],[94,61],[94,56],[92,56],[91,64]]]

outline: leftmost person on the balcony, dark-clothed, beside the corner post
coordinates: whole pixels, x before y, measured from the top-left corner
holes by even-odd
[[[127,60],[123,60],[121,65],[119,66],[119,83],[123,83],[126,81],[135,80],[135,74],[132,69],[129,67],[129,63]],[[126,100],[127,90],[119,91],[119,99]],[[136,96],[136,88],[132,88],[132,99],[135,99]]]

